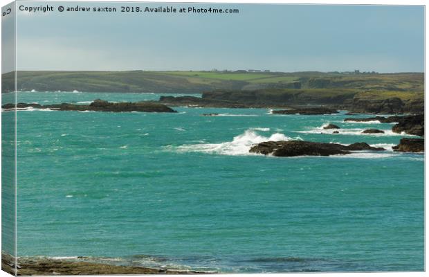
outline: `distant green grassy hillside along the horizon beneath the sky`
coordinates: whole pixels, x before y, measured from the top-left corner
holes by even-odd
[[[2,91],[13,88],[12,73],[2,75]],[[322,72],[210,71],[18,71],[22,91],[201,93],[215,90],[359,89],[423,91],[423,73],[343,74]]]

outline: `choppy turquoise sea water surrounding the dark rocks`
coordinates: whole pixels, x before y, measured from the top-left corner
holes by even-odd
[[[159,96],[17,98],[46,105]],[[18,111],[17,256],[219,272],[424,269],[424,156],[393,152],[405,135],[390,132],[392,124],[345,123],[345,111],[174,109],[179,113]],[[201,116],[207,113],[219,116]],[[343,134],[322,129],[327,123]],[[361,134],[367,128],[385,134]],[[387,150],[248,153],[254,143],[288,139]]]

